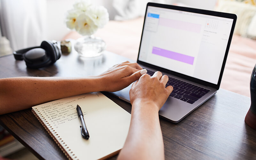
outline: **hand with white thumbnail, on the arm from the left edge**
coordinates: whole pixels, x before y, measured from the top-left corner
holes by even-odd
[[[102,91],[119,91],[138,80],[145,73],[147,70],[141,68],[138,63],[126,61],[117,64],[99,76]]]

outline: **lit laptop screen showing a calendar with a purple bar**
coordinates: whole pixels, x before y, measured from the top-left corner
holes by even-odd
[[[218,84],[233,19],[148,6],[138,60]]]

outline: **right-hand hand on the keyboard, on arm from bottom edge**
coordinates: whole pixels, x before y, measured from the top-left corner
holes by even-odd
[[[173,90],[172,86],[165,88],[167,82],[168,76],[163,76],[159,71],[155,72],[153,76],[148,74],[141,76],[130,90],[131,104],[137,102],[140,104],[155,104],[159,110]]]

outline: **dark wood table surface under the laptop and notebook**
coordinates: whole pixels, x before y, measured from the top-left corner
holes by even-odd
[[[7,55],[0,57],[0,78],[88,76],[125,60],[111,52],[92,59],[81,59],[72,52],[62,55],[53,66],[36,70]],[[131,113],[131,104],[103,93]],[[244,122],[250,103],[249,97],[220,89],[178,124],[160,118],[165,159],[256,159],[256,131]],[[67,159],[31,109],[1,115],[0,124],[39,159]]]

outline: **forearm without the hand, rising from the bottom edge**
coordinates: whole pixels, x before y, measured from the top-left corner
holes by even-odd
[[[133,103],[130,130],[118,158],[164,159],[158,108],[154,104]]]

